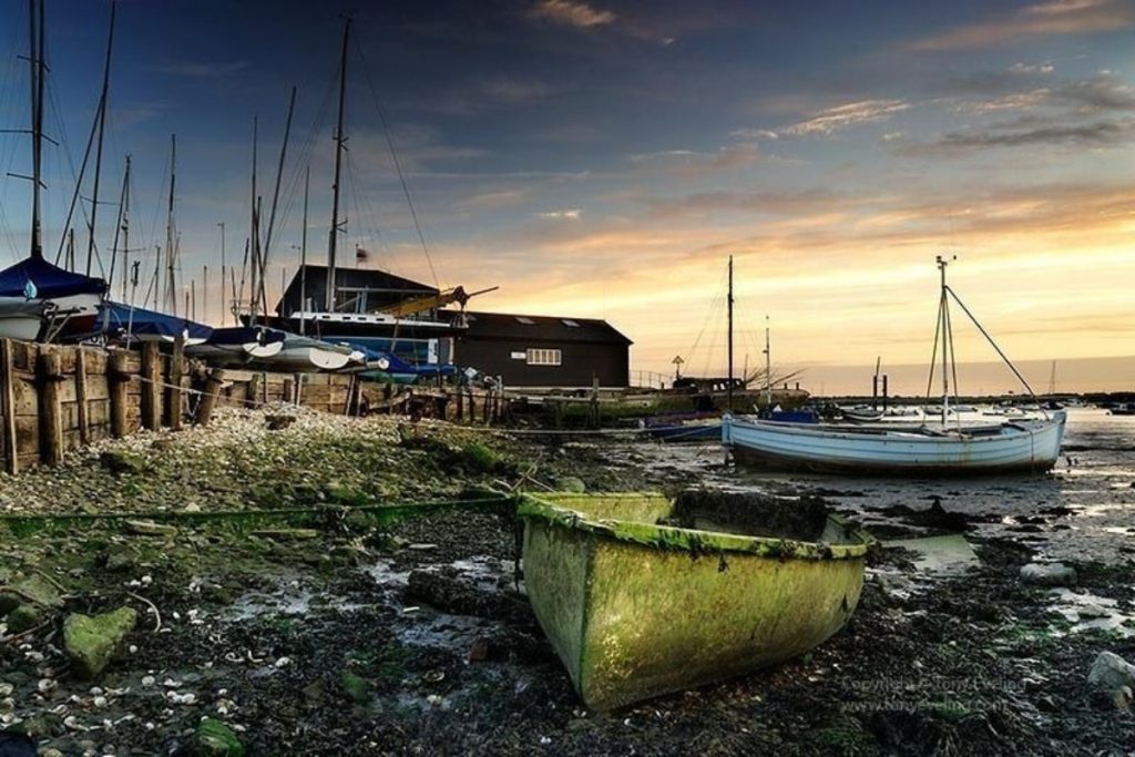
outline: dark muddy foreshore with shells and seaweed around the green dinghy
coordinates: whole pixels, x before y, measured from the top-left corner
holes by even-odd
[[[239,512],[476,497],[502,485],[676,490],[729,480],[720,455],[699,461],[701,474],[654,464],[654,447],[623,440],[510,440],[443,426],[400,432],[386,420],[342,431],[301,419],[268,432],[259,414],[225,423],[225,445],[192,431],[132,441],[138,459],[125,469],[103,455],[121,445],[72,461],[57,471],[68,482],[57,503],[50,472],[2,483],[3,514],[237,512],[169,535],[91,518],[6,524],[0,584],[39,574],[65,595],[42,624],[22,636],[5,629],[0,640],[0,720],[30,733],[41,754],[194,754],[205,716],[252,755],[1130,750],[1130,713],[1087,684],[1100,651],[1135,659],[1128,625],[1073,632],[1075,619],[1053,612],[1050,590],[1019,582],[1033,549],[1019,541],[970,530],[980,564],[939,577],[908,552],[882,549],[848,626],[812,654],[599,714],[580,705],[528,608],[507,508],[474,504],[385,523],[279,515],[270,528]],[[336,470],[289,465],[296,449],[312,465],[326,452]],[[186,480],[218,456],[239,474],[212,488]],[[267,473],[261,459],[274,461]],[[33,505],[19,504],[22,489]],[[927,521],[926,505],[890,513],[888,537],[969,528],[965,518]],[[1129,565],[1077,567],[1078,590],[1132,606]],[[141,620],[120,657],[96,680],[78,680],[61,650],[61,619],[124,605]]]

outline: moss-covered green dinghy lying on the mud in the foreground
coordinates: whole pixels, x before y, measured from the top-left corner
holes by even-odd
[[[588,707],[789,659],[855,611],[869,537],[818,502],[716,494],[698,505],[692,494],[519,505],[529,599]]]

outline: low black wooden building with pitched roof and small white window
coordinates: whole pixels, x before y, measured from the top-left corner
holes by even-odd
[[[604,320],[469,312],[466,322],[454,337],[455,362],[499,376],[506,387],[629,384],[632,342]]]

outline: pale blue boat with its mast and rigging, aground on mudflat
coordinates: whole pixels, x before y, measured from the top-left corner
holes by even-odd
[[[722,418],[722,444],[738,461],[773,468],[821,472],[883,476],[964,476],[974,473],[1043,473],[1060,456],[1066,413],[1041,411],[1041,419],[1015,422],[962,426],[961,414],[951,413],[948,368],[953,355],[949,302],[952,298],[967,316],[969,310],[945,284],[947,261],[938,258],[941,271],[941,298],[936,345],[942,344],[941,422],[927,423],[925,415],[917,427],[869,423],[861,428],[844,424],[801,426],[759,418]],[[976,321],[975,321],[976,322]],[[982,329],[992,343],[992,338]],[[1004,353],[993,344],[998,354]],[[931,365],[934,377],[935,354]],[[1014,368],[1017,378],[1033,395],[1028,384]],[[955,387],[956,389],[957,387]],[[956,399],[956,398],[955,398]],[[957,403],[955,403],[957,406]],[[928,409],[927,409],[928,410]],[[967,407],[973,411],[974,409]],[[1037,410],[1041,410],[1037,406]],[[844,411],[844,418],[847,412]],[[952,422],[951,422],[952,421]]]

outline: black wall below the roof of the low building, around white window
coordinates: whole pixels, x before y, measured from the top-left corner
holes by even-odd
[[[528,350],[560,350],[560,365],[530,365],[513,353]],[[489,376],[501,376],[506,387],[590,387],[592,377],[599,386],[624,387],[629,382],[630,354],[623,344],[554,342],[550,339],[504,339],[459,336],[454,362],[476,368]]]

